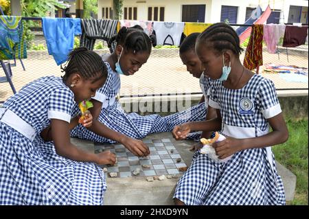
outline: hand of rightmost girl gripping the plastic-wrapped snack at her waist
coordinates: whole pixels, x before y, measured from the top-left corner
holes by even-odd
[[[241,150],[242,139],[234,139],[227,137],[223,141],[213,143],[212,146],[216,150],[219,159],[225,159]]]

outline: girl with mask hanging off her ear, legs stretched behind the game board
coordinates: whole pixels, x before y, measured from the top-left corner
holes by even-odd
[[[111,42],[113,40],[112,38]],[[154,132],[172,131],[176,124],[204,120],[205,106],[200,104],[168,117],[126,113],[117,100],[120,89],[119,75],[131,76],[138,71],[148,60],[152,45],[150,38],[139,30],[138,25],[134,28],[122,27],[115,41],[117,46],[113,54],[104,57],[108,69],[106,83],[104,87],[98,89],[91,100],[94,105],[90,109],[94,118],[93,126],[89,128],[77,126],[71,131],[71,136],[98,142],[115,143],[117,141],[136,156],[144,157],[150,151],[139,139]],[[200,135],[198,133],[195,137],[199,138]]]

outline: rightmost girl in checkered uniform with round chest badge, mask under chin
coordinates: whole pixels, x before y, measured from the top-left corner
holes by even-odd
[[[214,143],[215,161],[197,151],[176,187],[176,205],[284,205],[282,178],[271,146],[284,143],[288,130],[271,80],[245,69],[242,49],[229,25],[216,23],[196,41],[205,74],[214,79],[209,106],[218,117],[176,126],[183,139],[196,130],[220,130],[227,139]],[[269,132],[271,127],[271,132]]]

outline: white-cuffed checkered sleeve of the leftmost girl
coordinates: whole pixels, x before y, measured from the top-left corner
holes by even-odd
[[[69,89],[54,91],[48,98],[48,119],[70,122],[74,104],[74,95]]]

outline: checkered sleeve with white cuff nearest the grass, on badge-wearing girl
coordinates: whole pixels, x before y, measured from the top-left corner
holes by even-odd
[[[265,119],[274,117],[282,112],[275,84],[271,80],[265,78],[260,85],[258,91],[258,108],[264,115]]]

